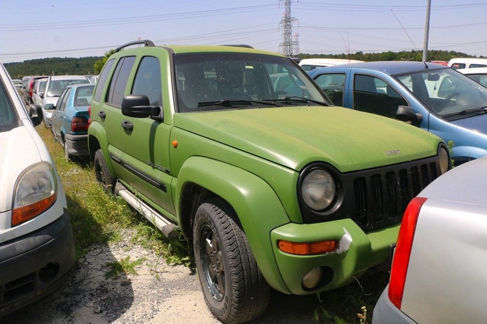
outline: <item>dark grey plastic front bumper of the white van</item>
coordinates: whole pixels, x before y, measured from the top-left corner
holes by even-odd
[[[0,245],[0,317],[42,298],[75,270],[68,211],[51,224]]]

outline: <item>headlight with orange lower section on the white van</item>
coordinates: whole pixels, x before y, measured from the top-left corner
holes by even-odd
[[[14,189],[12,227],[49,209],[56,202],[56,193],[56,173],[50,163],[39,162],[22,171]]]

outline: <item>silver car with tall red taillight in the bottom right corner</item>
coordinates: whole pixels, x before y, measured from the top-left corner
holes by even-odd
[[[445,173],[404,213],[373,324],[486,323],[487,157]]]

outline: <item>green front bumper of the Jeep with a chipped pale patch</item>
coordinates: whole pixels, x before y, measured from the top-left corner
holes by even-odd
[[[330,290],[349,284],[369,268],[390,258],[400,224],[365,234],[350,218],[323,223],[288,223],[271,232],[276,263],[284,283],[293,294],[304,295]],[[295,255],[282,252],[278,240],[291,242],[340,241],[338,252]],[[324,277],[315,289],[302,287],[303,277],[312,269],[322,267]]]

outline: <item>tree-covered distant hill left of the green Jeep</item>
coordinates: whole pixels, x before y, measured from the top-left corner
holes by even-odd
[[[101,56],[87,57],[49,57],[23,62],[5,63],[5,68],[12,78],[26,75],[61,75],[95,74],[94,62]]]

